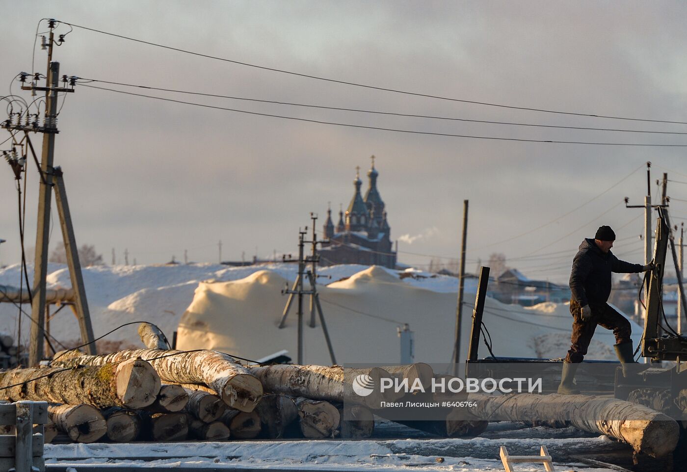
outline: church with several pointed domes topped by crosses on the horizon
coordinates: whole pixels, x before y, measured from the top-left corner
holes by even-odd
[[[319,264],[382,265],[396,268],[396,251],[392,249],[390,227],[384,201],[377,190],[379,172],[372,167],[368,170],[368,189],[361,194],[363,181],[357,168],[353,181],[353,198],[346,212],[339,210],[339,222],[334,225],[332,209],[327,210],[324,235],[328,242],[322,243]]]

